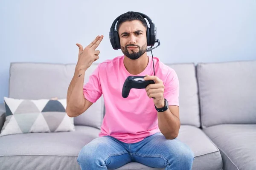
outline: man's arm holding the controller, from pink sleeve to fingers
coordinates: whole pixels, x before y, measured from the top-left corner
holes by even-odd
[[[169,102],[169,109],[164,112],[157,112],[158,127],[166,139],[175,139],[180,130],[179,113],[179,81],[177,74],[172,72],[167,76],[165,85],[163,81],[156,76],[147,76],[145,80],[154,80],[155,84],[146,87],[147,95],[153,98],[157,108],[163,108],[164,97]]]

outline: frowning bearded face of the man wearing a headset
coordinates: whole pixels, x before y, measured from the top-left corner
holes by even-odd
[[[139,20],[126,21],[119,27],[121,50],[130,59],[138,59],[147,49],[146,28]]]

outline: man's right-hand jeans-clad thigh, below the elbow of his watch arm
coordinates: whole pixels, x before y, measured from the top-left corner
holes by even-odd
[[[191,167],[194,161],[194,153],[186,144],[177,138],[166,139],[162,133],[149,136],[142,142],[131,145],[131,148],[134,161],[149,167],[180,169]]]

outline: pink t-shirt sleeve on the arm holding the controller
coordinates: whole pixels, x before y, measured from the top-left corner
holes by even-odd
[[[180,83],[174,70],[169,71],[166,77],[164,98],[167,99],[169,106],[179,106]]]

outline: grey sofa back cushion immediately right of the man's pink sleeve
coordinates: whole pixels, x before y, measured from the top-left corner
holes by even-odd
[[[198,85],[194,63],[167,64],[177,73],[180,82],[180,122],[200,127]]]

